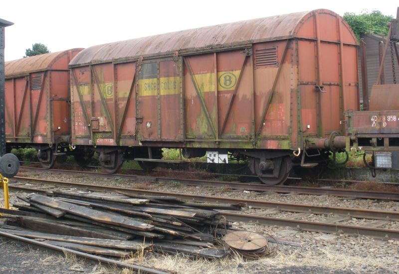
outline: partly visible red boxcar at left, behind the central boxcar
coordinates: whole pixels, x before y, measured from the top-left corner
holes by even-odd
[[[68,63],[82,49],[5,62],[7,150],[30,146],[50,168],[70,143]]]

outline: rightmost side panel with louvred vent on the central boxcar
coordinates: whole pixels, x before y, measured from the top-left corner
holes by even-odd
[[[287,45],[288,43],[288,45]],[[290,128],[290,40],[254,44],[255,125],[264,148],[288,148]],[[264,115],[265,114],[265,115]]]

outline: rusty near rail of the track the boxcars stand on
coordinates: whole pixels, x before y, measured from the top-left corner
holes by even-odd
[[[26,168],[22,167],[21,170],[30,171],[43,171],[40,168]],[[274,191],[280,193],[297,193],[309,195],[334,195],[340,197],[355,197],[365,199],[386,199],[386,200],[399,200],[399,192],[388,191],[370,191],[370,190],[355,190],[343,188],[325,188],[325,187],[308,187],[308,186],[295,186],[295,185],[266,185],[262,183],[238,183],[238,182],[223,182],[223,181],[209,181],[209,180],[194,180],[184,178],[166,178],[156,176],[137,176],[125,174],[102,174],[88,171],[71,171],[71,170],[46,170],[48,173],[55,174],[84,174],[92,177],[103,178],[124,178],[132,181],[143,181],[152,183],[171,183],[179,182],[186,185],[195,186],[210,186],[210,187],[227,187],[231,189],[243,189],[252,191]]]

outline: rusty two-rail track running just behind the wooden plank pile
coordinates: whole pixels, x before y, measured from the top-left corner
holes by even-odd
[[[27,184],[28,183],[28,184]],[[261,200],[250,200],[250,199],[236,199],[226,197],[214,197],[214,196],[201,196],[193,194],[179,194],[172,192],[163,192],[156,190],[143,190],[133,189],[124,187],[113,187],[104,185],[84,184],[84,183],[70,183],[60,181],[50,181],[34,178],[22,178],[17,177],[10,181],[10,190],[14,191],[34,191],[34,192],[46,192],[53,189],[59,188],[77,188],[92,191],[124,191],[131,192],[141,195],[163,195],[163,196],[175,196],[186,200],[209,202],[209,203],[246,203],[248,206],[253,208],[262,209],[277,209],[281,211],[297,212],[297,214],[334,214],[341,218],[334,217],[328,222],[312,222],[297,220],[295,218],[272,218],[266,216],[259,216],[255,214],[240,214],[223,212],[224,216],[228,221],[238,222],[257,222],[261,225],[267,226],[283,226],[293,227],[297,230],[302,231],[315,231],[324,233],[345,233],[345,234],[356,234],[356,235],[367,235],[372,237],[383,238],[396,238],[399,239],[399,230],[390,230],[379,228],[392,221],[399,221],[399,212],[396,211],[382,211],[382,210],[368,210],[360,208],[343,208],[343,207],[327,207],[327,206],[314,206],[305,204],[292,204],[282,202],[269,202]],[[297,215],[297,216],[299,216]],[[340,221],[351,218],[367,218],[377,220],[371,222],[367,227],[351,226],[340,224]]]

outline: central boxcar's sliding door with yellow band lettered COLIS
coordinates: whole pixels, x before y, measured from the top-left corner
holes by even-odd
[[[180,64],[165,60],[139,66],[137,140],[182,140]]]

